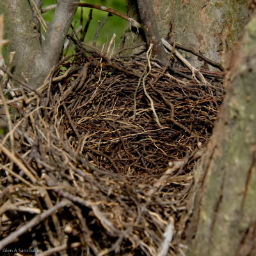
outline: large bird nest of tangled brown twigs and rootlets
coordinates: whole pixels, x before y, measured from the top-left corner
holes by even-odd
[[[206,72],[206,84],[180,70],[84,50],[36,92],[2,97],[13,124],[0,145],[1,250],[182,250],[193,167],[225,90],[218,74]]]

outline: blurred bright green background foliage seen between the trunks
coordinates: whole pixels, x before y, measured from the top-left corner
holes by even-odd
[[[112,8],[118,12],[126,13],[125,0],[86,0],[86,1],[81,1],[81,3],[99,4],[99,5],[103,5],[103,6]],[[56,4],[56,1],[55,0],[43,0],[43,7],[51,5],[51,4]],[[90,8],[83,8],[84,24],[86,23],[89,12],[90,12]],[[51,10],[47,13],[44,13],[43,16],[44,16],[45,20],[47,20],[47,22],[50,22],[53,14],[54,14],[54,10]],[[92,45],[95,33],[99,26],[98,21],[101,22],[102,20],[104,20],[104,18],[107,15],[108,15],[108,12],[102,12],[100,10],[93,9],[92,20],[90,21],[90,26],[88,28],[88,32],[84,38],[84,42],[86,42],[86,44]],[[81,16],[81,7],[79,7],[77,9],[76,15],[74,17],[74,21],[72,23],[73,25],[76,24],[76,28],[80,24],[80,16]],[[121,19],[120,17],[118,17],[116,15],[109,17],[106,24],[104,24],[103,28],[100,30],[99,38],[97,40],[96,46],[99,48],[102,47],[104,42],[106,42],[107,37],[108,37],[108,41],[109,41],[111,39],[111,37],[113,36],[113,33],[115,33],[116,34],[115,44],[116,44],[116,47],[118,47],[121,36],[124,32],[125,24],[126,24],[126,20]]]

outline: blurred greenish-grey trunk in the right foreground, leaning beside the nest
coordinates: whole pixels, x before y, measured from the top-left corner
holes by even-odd
[[[236,79],[195,171],[188,255],[256,255],[256,17],[228,72]],[[195,199],[195,200],[194,200]]]

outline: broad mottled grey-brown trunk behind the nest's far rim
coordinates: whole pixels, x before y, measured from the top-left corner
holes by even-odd
[[[135,2],[127,0],[128,15],[140,20]],[[173,42],[173,29],[175,42],[190,47],[219,63],[223,63],[226,52],[233,49],[241,38],[248,18],[248,0],[151,0],[151,2],[161,37]],[[141,36],[136,36],[137,31],[133,32],[131,33],[130,27],[127,26],[122,47],[129,47],[143,40]],[[214,69],[189,52],[186,52],[186,58],[195,67]]]

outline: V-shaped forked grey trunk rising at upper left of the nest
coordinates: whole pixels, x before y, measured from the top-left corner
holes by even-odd
[[[0,1],[0,12],[4,15],[5,35],[10,42],[7,52],[15,51],[15,74],[26,78],[37,88],[58,63],[68,28],[76,12],[79,0],[58,0],[45,41],[41,45],[28,0]]]

